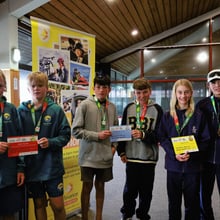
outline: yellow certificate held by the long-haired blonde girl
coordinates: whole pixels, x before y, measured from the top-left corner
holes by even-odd
[[[175,154],[199,151],[193,135],[171,138]]]

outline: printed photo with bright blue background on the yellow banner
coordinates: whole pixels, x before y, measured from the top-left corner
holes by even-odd
[[[70,62],[70,83],[73,90],[89,90],[90,66]]]

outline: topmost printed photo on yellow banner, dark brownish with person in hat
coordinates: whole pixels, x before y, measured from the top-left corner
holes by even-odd
[[[88,40],[61,35],[60,44],[62,50],[69,51],[71,61],[88,65]]]

